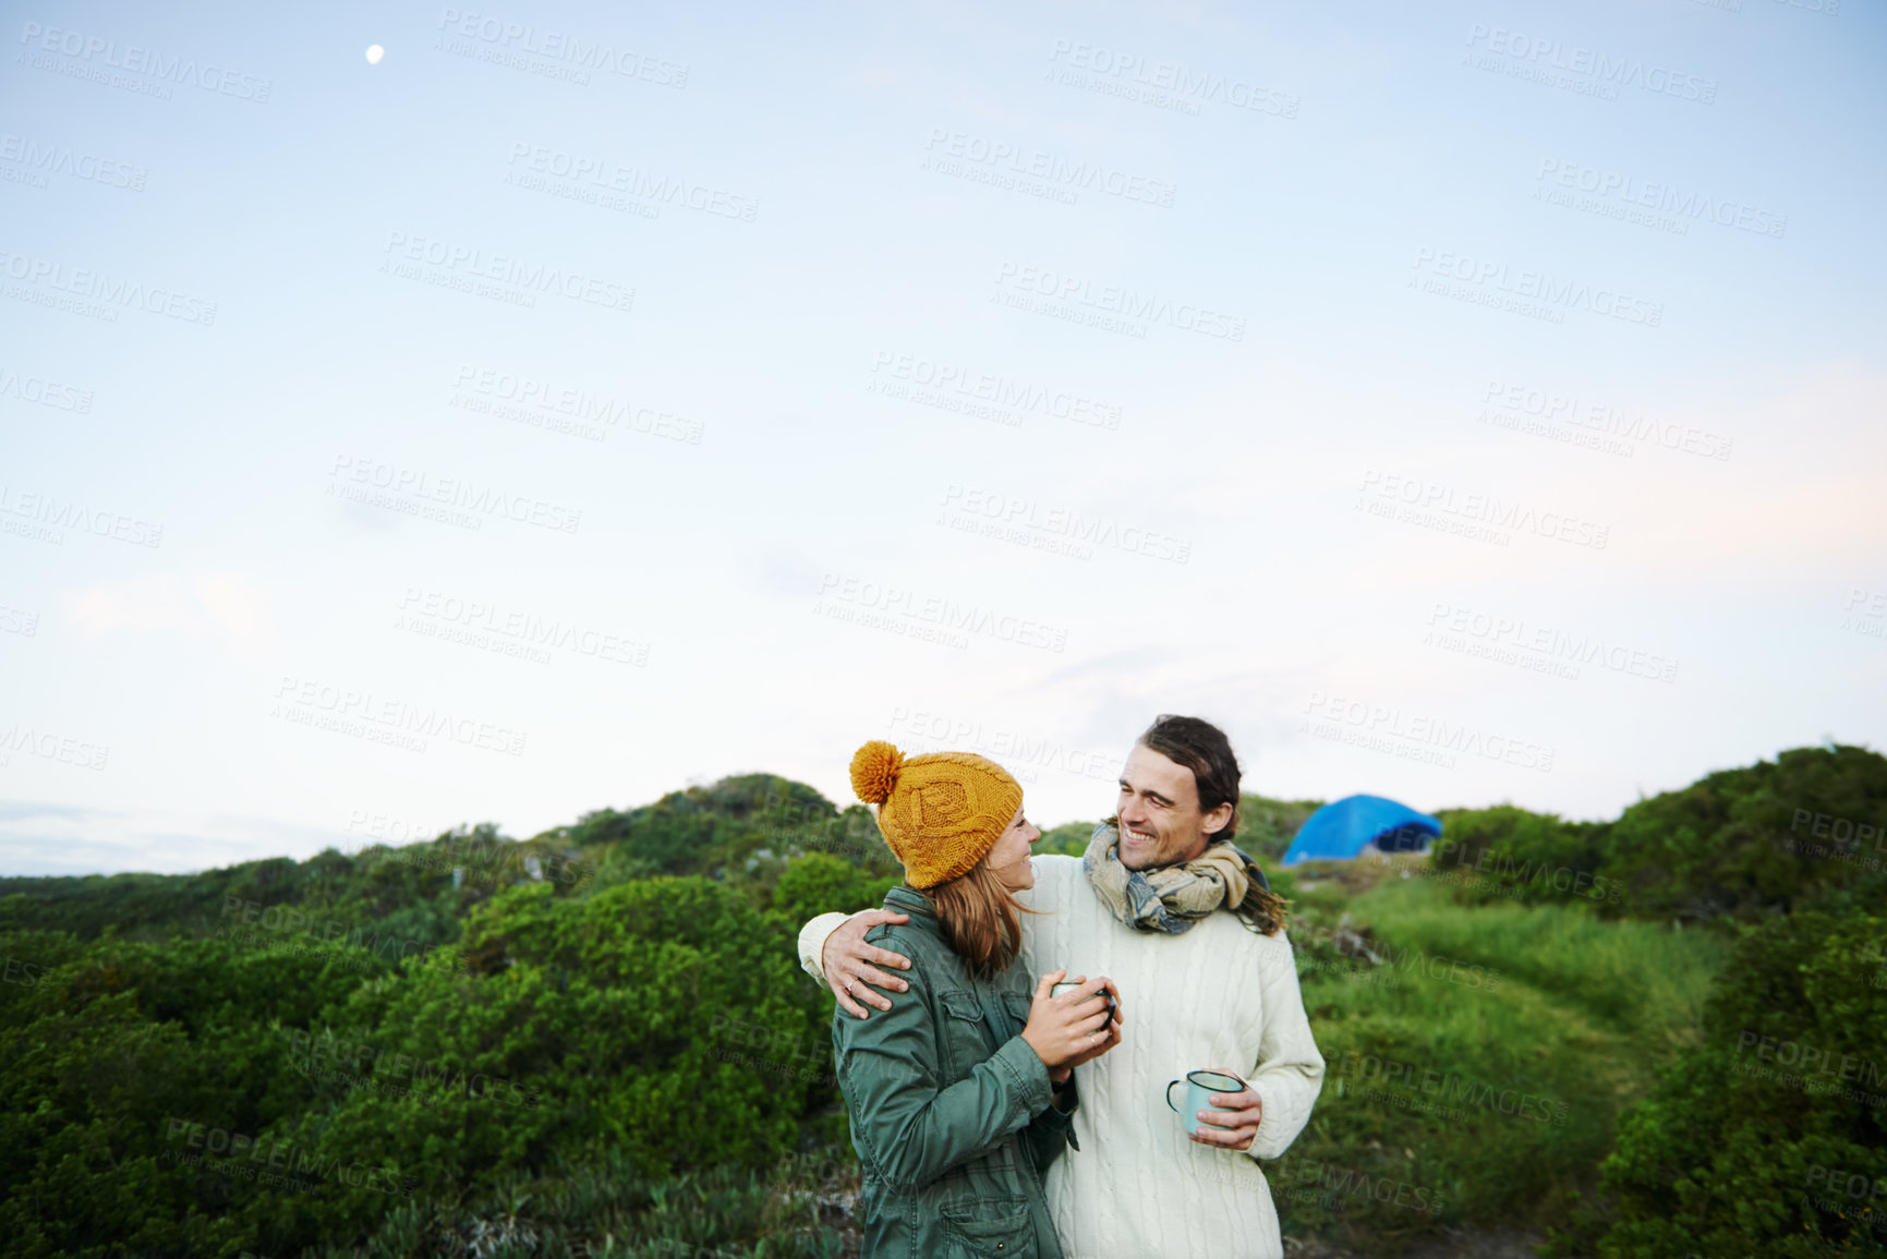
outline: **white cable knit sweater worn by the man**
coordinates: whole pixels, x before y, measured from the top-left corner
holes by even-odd
[[[1017,965],[1030,976],[1104,974],[1121,989],[1121,1044],[1076,1068],[1081,1148],[1055,1161],[1045,1185],[1068,1259],[1281,1259],[1259,1159],[1283,1155],[1323,1089],[1285,932],[1261,936],[1227,912],[1177,936],[1132,931],[1089,889],[1079,857],[1032,861],[1036,885],[1017,900],[1051,912],[1023,915]],[[800,965],[819,982],[842,921],[821,914],[800,931]],[[1166,1082],[1200,1066],[1244,1076],[1264,1099],[1249,1151],[1194,1144],[1189,1119],[1168,1110]],[[1174,1100],[1185,1104],[1183,1087]]]

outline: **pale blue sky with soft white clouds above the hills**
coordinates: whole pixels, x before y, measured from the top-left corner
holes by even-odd
[[[1887,742],[1876,4],[6,8],[6,874]]]

